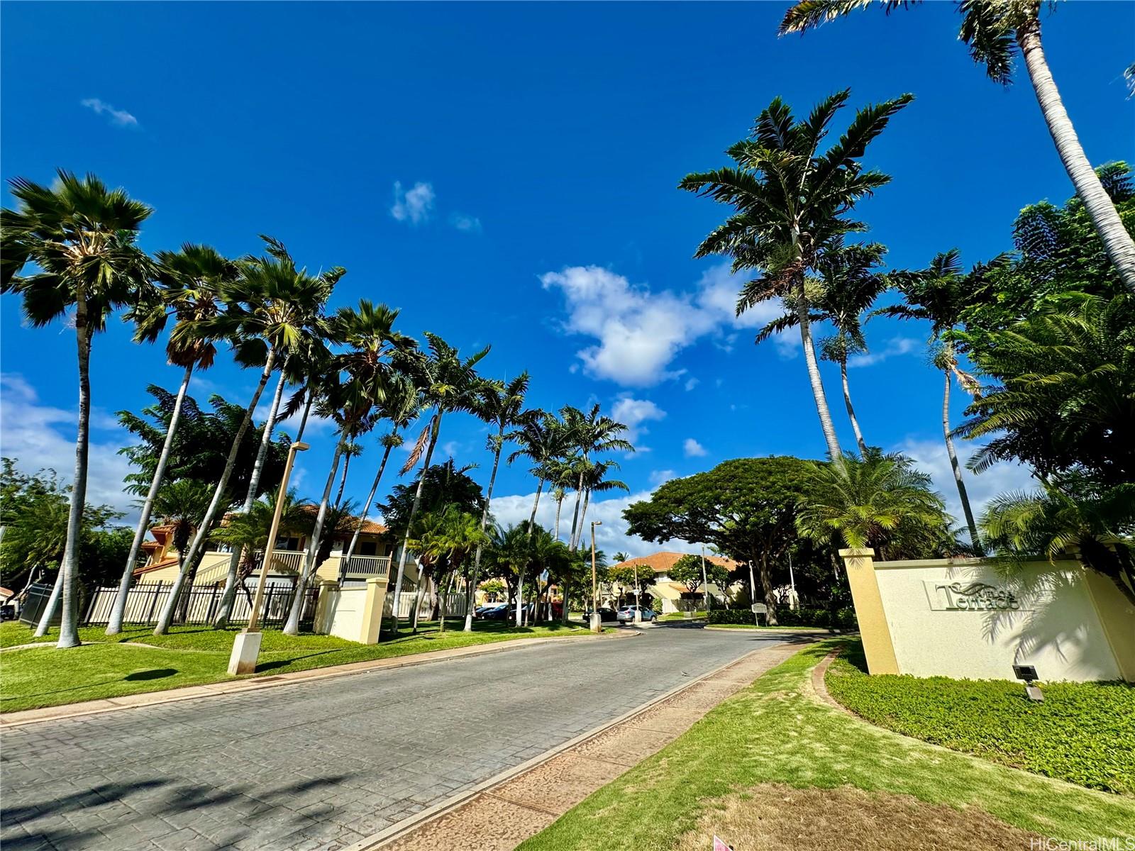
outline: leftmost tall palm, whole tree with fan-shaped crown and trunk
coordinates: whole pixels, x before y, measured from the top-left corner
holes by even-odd
[[[151,262],[135,241],[152,212],[94,175],[59,170],[51,188],[11,180],[18,209],[0,211],[0,293],[17,293],[24,314],[40,328],[70,313],[78,354],[78,429],[75,478],[67,515],[67,546],[59,580],[36,634],[43,634],[62,597],[60,648],[78,640],[78,546],[86,504],[91,422],[91,344],[120,307],[150,303]],[[37,271],[24,276],[33,263]]]

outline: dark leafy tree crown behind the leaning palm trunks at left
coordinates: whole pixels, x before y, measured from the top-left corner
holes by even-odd
[[[136,446],[119,449],[119,453],[137,467],[136,472],[127,474],[126,483],[127,489],[138,496],[145,496],[150,489],[175,402],[174,394],[157,385],[150,385],[146,390],[154,397],[154,404],[143,408],[141,415],[129,411],[118,412],[118,421],[141,440]],[[212,486],[220,481],[228,450],[241,428],[245,408],[226,402],[218,395],[209,398],[209,405],[212,411],[202,411],[192,396],[186,396],[182,403],[182,416],[170,448],[166,481],[192,479]],[[236,466],[228,480],[230,503],[243,500],[249,491],[249,481],[252,478],[252,467],[257,461],[262,433],[262,427],[250,428],[241,441]],[[274,438],[269,444],[258,497],[278,489],[289,445],[291,439],[286,435]]]

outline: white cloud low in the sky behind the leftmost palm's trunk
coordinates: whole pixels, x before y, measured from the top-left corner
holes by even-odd
[[[0,454],[15,460],[18,470],[34,473],[51,469],[60,480],[70,482],[77,422],[75,411],[40,404],[35,388],[23,376],[0,374]],[[131,465],[118,454],[119,447],[129,443],[132,436],[116,420],[104,412],[92,412],[86,499],[126,512],[124,523],[137,519],[134,497],[123,492]]]

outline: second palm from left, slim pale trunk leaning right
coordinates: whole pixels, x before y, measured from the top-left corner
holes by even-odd
[[[194,369],[209,369],[217,355],[213,340],[200,337],[191,329],[195,323],[210,319],[222,310],[219,300],[219,285],[233,280],[236,275],[235,264],[208,245],[186,243],[179,252],[159,251],[155,256],[158,260],[158,281],[161,284],[161,288],[152,312],[138,322],[138,332],[135,338],[149,343],[154,342],[169,319],[173,318],[176,325],[170,334],[169,343],[166,345],[166,359],[175,366],[183,366],[185,372],[174,401],[169,427],[166,430],[166,441],[158,456],[158,464],[150,481],[150,490],[142,503],[142,513],[138,516],[137,528],[134,530],[134,540],[126,558],[126,566],[123,568],[123,578],[118,583],[118,596],[115,598],[115,605],[107,623],[108,635],[117,635],[123,630],[126,592],[133,580],[134,565],[137,564],[142,541],[150,528],[150,514],[166,474],[166,465],[169,462],[174,437],[180,423],[182,406],[190,387],[190,379],[193,377]],[[188,544],[188,541],[185,542]]]

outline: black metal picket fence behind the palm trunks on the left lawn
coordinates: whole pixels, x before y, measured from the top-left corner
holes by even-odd
[[[124,623],[157,623],[158,616],[169,599],[173,587],[173,582],[144,582],[131,588],[126,592]],[[50,593],[50,588],[48,592]],[[252,614],[251,598],[254,592],[254,585],[246,585],[244,590],[237,589],[236,599],[233,601],[233,614],[228,618],[230,624],[241,625],[249,622],[249,616]],[[174,623],[212,623],[220,609],[221,593],[222,589],[220,585],[184,589],[177,603]],[[108,623],[117,596],[118,588],[116,587],[96,589],[91,596],[83,623],[87,625]],[[292,600],[294,598],[295,588],[293,585],[275,583],[267,585],[264,588],[263,606],[261,607],[261,624],[263,626],[283,626],[284,622],[287,621],[288,613],[292,610]],[[31,599],[31,595],[28,599]],[[318,601],[318,585],[304,589],[303,604],[300,609],[301,626],[310,626],[314,622],[316,605]],[[40,606],[40,610],[42,612],[42,605]]]

